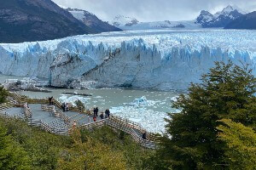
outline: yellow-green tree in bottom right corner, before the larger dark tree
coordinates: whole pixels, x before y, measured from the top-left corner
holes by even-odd
[[[229,169],[256,169],[256,133],[253,128],[229,119],[220,122],[224,125],[218,127],[221,132],[218,138],[225,143],[224,155]]]

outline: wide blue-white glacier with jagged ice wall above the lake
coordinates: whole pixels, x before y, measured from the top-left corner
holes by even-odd
[[[185,90],[214,61],[229,59],[256,75],[256,31],[122,31],[0,44],[0,73],[67,88]]]

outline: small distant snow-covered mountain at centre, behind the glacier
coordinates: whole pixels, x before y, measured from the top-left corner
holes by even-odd
[[[134,26],[138,23],[137,19],[123,15],[116,16],[112,21],[113,26]]]

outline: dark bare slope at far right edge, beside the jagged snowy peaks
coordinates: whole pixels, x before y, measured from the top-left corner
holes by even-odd
[[[245,14],[236,20],[233,20],[224,27],[225,29],[248,29],[256,30],[256,12]]]

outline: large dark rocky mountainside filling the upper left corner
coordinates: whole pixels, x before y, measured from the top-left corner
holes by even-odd
[[[1,1],[0,42],[32,42],[94,32],[50,0]]]

